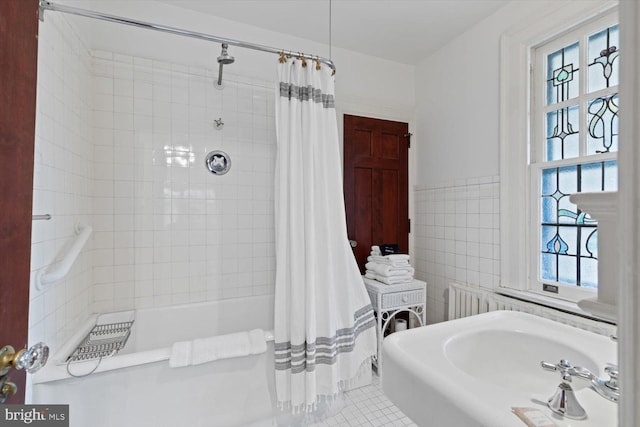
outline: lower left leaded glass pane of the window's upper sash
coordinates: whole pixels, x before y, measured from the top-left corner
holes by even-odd
[[[578,106],[561,108],[547,113],[546,160],[578,157],[580,119]]]

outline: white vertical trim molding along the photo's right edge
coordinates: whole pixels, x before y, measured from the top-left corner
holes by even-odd
[[[619,425],[640,425],[640,3],[620,2]]]

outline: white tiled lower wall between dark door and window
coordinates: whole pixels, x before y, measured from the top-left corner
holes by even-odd
[[[446,320],[449,282],[492,288],[500,278],[498,176],[416,187],[416,277],[427,282],[427,323]]]

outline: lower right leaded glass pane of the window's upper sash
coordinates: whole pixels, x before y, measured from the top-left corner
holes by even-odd
[[[618,94],[589,101],[587,154],[618,151]]]

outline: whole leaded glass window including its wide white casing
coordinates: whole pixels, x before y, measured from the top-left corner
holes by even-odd
[[[569,197],[617,190],[617,10],[570,3],[530,22],[501,39],[497,291],[579,311],[566,301],[595,296],[598,232]]]

